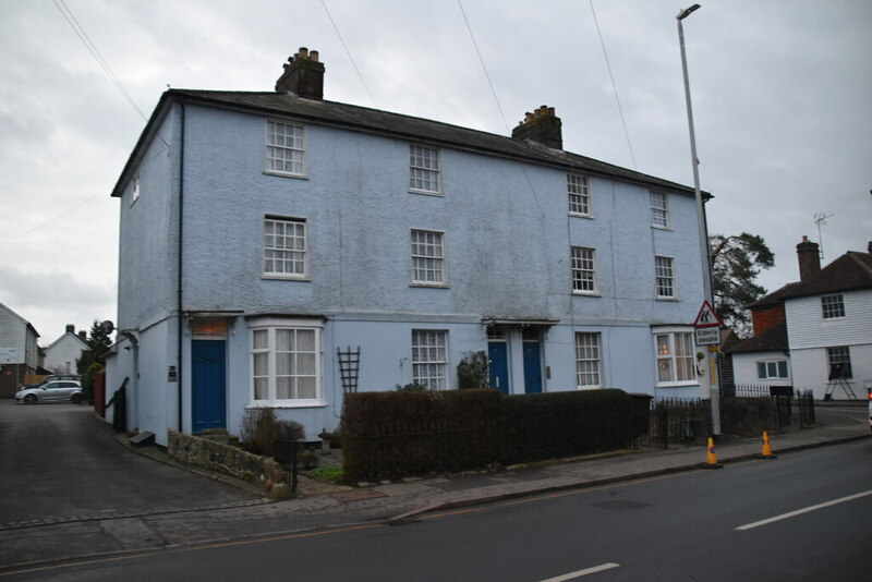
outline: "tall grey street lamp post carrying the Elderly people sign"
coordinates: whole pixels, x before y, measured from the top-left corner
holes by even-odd
[[[690,82],[688,80],[688,59],[685,52],[685,29],[681,26],[681,21],[690,16],[694,11],[699,10],[700,4],[693,4],[686,8],[676,16],[678,22],[678,43],[681,47],[681,72],[685,74],[685,100],[688,107],[688,130],[690,132],[690,159],[693,167],[693,193],[697,197],[697,223],[700,231],[700,259],[702,263],[702,281],[703,294],[705,301],[714,305],[714,298],[712,294],[712,265],[710,263],[708,252],[708,233],[705,228],[705,210],[702,206],[702,192],[700,191],[700,160],[697,157],[697,137],[693,131],[693,108],[690,104]],[[717,386],[717,374],[713,365],[713,354],[706,350],[706,364],[711,378],[711,402],[712,402],[712,433],[715,437],[720,436],[720,395]]]

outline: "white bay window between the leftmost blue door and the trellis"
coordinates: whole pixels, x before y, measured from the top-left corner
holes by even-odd
[[[294,344],[289,350],[278,350],[279,332],[290,331]],[[322,338],[324,323],[318,319],[295,319],[287,317],[265,317],[249,322],[250,338],[250,391],[252,407],[305,408],[326,405],[322,396],[322,360],[324,350]],[[298,340],[302,334],[313,334],[312,349],[300,349]],[[280,354],[290,354],[287,368],[282,369]],[[305,363],[311,366],[301,371]],[[305,373],[302,373],[305,372]],[[314,396],[308,398],[278,398],[280,379],[290,380],[291,389],[296,391],[301,381],[314,383]],[[261,381],[258,381],[261,380]],[[258,398],[259,396],[263,398]]]

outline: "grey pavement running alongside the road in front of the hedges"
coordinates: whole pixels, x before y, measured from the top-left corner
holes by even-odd
[[[871,434],[862,401],[819,403],[814,427],[788,427],[770,437],[773,452],[785,454],[865,439]],[[760,438],[723,441],[715,454],[728,470],[729,463],[754,459],[761,445]],[[159,451],[145,452],[160,458]],[[83,516],[60,523],[0,523],[0,574],[98,555],[155,551],[356,523],[400,524],[450,508],[694,470],[705,461],[706,448],[700,446],[623,451],[510,468],[500,473],[409,478],[354,488],[303,480],[303,497],[288,501],[249,498],[239,504],[183,511],[177,508],[143,514]],[[204,477],[227,480],[198,472]]]

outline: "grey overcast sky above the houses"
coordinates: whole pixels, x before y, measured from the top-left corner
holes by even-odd
[[[0,303],[40,344],[116,320],[109,194],[145,120],[68,19],[146,117],[168,86],[272,90],[304,46],[326,64],[326,99],[504,135],[548,105],[566,149],[691,185],[676,28],[691,3],[0,0]],[[872,2],[700,3],[685,36],[710,232],[764,237],[768,290],[798,279],[815,214],[829,215],[824,263],[864,251]]]

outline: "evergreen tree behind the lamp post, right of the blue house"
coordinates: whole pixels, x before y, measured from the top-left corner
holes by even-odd
[[[751,314],[747,305],[766,294],[756,283],[761,269],[771,269],[775,256],[762,237],[742,232],[708,238],[712,253],[712,280],[715,311],[724,325],[740,338],[751,336]]]

